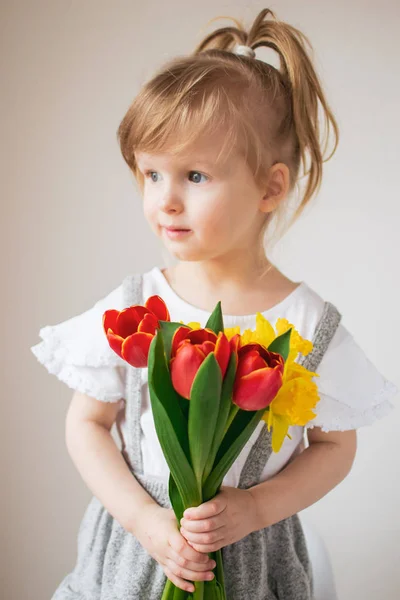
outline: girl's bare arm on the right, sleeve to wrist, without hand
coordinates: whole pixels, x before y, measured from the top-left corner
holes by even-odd
[[[350,472],[357,432],[307,430],[309,447],[271,479],[249,488],[258,529],[307,508],[336,487]]]

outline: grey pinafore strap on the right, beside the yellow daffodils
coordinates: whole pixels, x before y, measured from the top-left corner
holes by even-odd
[[[297,362],[306,369],[316,372],[328,346],[335,335],[342,315],[331,303],[325,302],[324,309],[313,335],[313,349],[307,356],[300,355]],[[252,446],[239,479],[239,488],[247,489],[261,481],[261,475],[272,454],[272,430],[261,422],[259,436]]]

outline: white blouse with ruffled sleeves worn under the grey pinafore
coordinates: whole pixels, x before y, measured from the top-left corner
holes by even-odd
[[[204,326],[210,313],[184,301],[170,287],[161,268],[143,273],[143,297],[158,294],[168,306],[172,321],[197,321]],[[286,318],[300,335],[311,340],[321,317],[324,299],[306,282],[302,282],[283,301],[262,314],[272,325]],[[31,347],[41,364],[71,389],[103,402],[124,398],[126,363],[108,345],[102,328],[102,315],[108,309],[122,310],[122,283],[85,312],[57,325],[40,329],[42,341]],[[261,311],[260,311],[261,312]],[[224,326],[239,325],[240,331],[255,328],[255,314],[224,315]],[[320,401],[317,416],[308,427],[323,431],[357,429],[388,415],[394,408],[390,401],[399,389],[372,364],[351,333],[340,323],[317,369],[316,380]],[[144,473],[168,482],[169,468],[159,444],[151,411],[147,385],[147,369],[141,370],[142,411],[141,448]],[[122,403],[121,410],[124,410]],[[125,420],[122,416],[118,435],[124,442]],[[237,486],[247,455],[259,435],[263,422],[253,432],[249,443],[226,474],[223,485]],[[278,473],[303,446],[304,427],[289,429],[288,437],[278,453],[274,453],[262,474],[266,480]]]

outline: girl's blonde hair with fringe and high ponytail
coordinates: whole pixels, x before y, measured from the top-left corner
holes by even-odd
[[[265,234],[275,216],[276,231],[282,234],[319,190],[322,166],[336,151],[339,130],[307,53],[306,44],[312,50],[308,38],[268,8],[259,13],[249,31],[232,20],[236,27],[210,33],[192,54],[168,61],[145,83],[119,125],[118,141],[140,191],[144,181],[135,152],[178,153],[199,137],[210,136],[212,143],[213,135],[221,131],[225,140],[218,159],[226,160],[231,151],[241,152],[261,189],[271,165],[285,163],[290,192],[301,178],[307,176],[307,180],[287,227],[290,194],[267,214],[260,232]],[[280,70],[256,57],[235,54],[236,44],[253,50],[273,48],[280,57]],[[318,100],[326,126],[323,150]],[[331,128],[334,148],[324,158]]]

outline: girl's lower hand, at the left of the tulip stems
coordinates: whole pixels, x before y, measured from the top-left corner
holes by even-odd
[[[131,533],[162,566],[168,579],[182,590],[193,592],[192,581],[213,579],[215,562],[187,543],[179,532],[172,508],[147,505],[141,511],[140,523]]]

